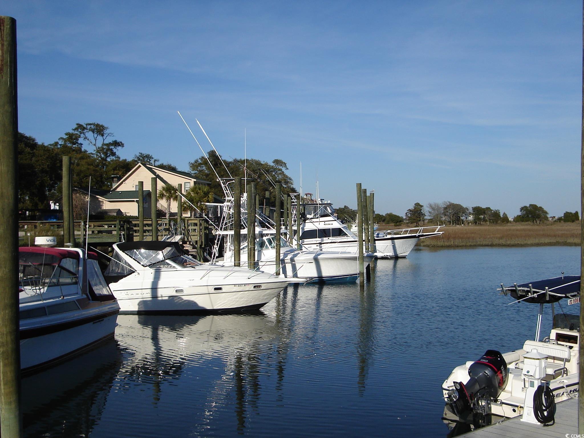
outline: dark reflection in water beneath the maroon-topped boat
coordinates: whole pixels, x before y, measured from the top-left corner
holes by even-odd
[[[122,355],[113,339],[22,379],[24,436],[89,436],[105,409]]]

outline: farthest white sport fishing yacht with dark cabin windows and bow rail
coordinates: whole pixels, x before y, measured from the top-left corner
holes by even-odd
[[[307,249],[357,253],[359,239],[336,216],[332,204],[301,204],[305,220],[301,225],[300,241]],[[296,217],[296,215],[294,215]],[[378,258],[406,257],[419,239],[439,236],[442,225],[436,227],[404,228],[376,231],[375,256]]]

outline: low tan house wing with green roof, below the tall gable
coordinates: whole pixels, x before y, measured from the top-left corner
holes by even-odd
[[[78,188],[73,190],[74,193],[81,194],[87,201],[89,194],[87,190]],[[150,190],[144,190],[144,217],[151,217],[150,199]],[[93,189],[89,201],[89,214],[137,216],[138,191]]]

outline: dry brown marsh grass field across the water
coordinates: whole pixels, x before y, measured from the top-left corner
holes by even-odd
[[[393,227],[392,227],[393,228]],[[419,246],[544,246],[580,245],[580,223],[465,225],[442,227],[444,234],[421,239]]]

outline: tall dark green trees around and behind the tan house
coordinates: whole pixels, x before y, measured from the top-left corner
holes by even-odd
[[[71,131],[49,144],[38,142],[36,138],[23,133],[18,134],[18,186],[19,210],[48,208],[49,201],[61,196],[62,157],[71,157],[72,185],[86,189],[91,176],[92,189],[110,189],[112,175],[126,175],[138,162],[157,166],[171,171],[178,171],[176,166],[161,162],[151,154],[140,152],[133,158],[120,158],[119,151],[124,148],[124,142],[114,138],[109,127],[100,123],[77,123]],[[221,178],[228,176],[215,151],[208,152],[208,157]],[[224,161],[232,176],[244,176],[244,159]],[[248,177],[255,179],[256,190],[260,196],[266,190],[273,189],[273,183],[281,182],[284,193],[296,192],[293,181],[286,174],[286,163],[274,159],[272,164],[258,159],[247,159]],[[220,183],[217,181],[207,159],[200,157],[189,162],[189,171],[197,175],[197,179],[209,181],[208,187],[194,185],[192,197],[195,204],[201,200],[212,200],[213,194],[223,197]],[[159,197],[169,203],[176,200],[172,187],[162,187]],[[199,193],[201,192],[201,193]],[[274,190],[272,190],[272,197]],[[168,208],[167,208],[168,210]]]

